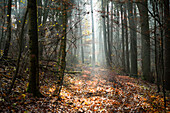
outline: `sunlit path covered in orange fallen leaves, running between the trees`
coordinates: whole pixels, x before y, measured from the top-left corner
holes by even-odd
[[[116,75],[100,67],[95,69],[94,75],[89,70],[87,68],[84,74],[70,78],[71,85],[62,90],[62,106],[58,111],[112,113],[163,110],[163,99],[140,80]]]

